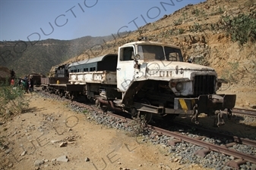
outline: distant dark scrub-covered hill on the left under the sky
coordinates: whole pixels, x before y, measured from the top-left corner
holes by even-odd
[[[85,36],[73,40],[46,39],[42,41],[0,42],[0,66],[14,69],[17,76],[49,73],[52,66],[81,54],[92,45],[109,41],[112,36]]]

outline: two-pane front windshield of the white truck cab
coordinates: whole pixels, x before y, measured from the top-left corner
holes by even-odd
[[[141,60],[182,61],[182,52],[179,48],[160,45],[138,45],[137,50]]]

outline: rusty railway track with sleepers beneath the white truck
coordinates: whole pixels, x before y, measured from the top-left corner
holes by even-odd
[[[80,103],[77,103],[77,102],[75,102],[75,104],[79,104],[81,107],[83,107],[83,104],[80,104]],[[93,107],[87,107],[87,108],[102,112],[102,110],[97,110]],[[107,114],[110,115],[110,116],[114,116],[116,118],[119,118],[119,119],[124,119],[125,121],[131,121],[131,119],[124,118],[123,116],[119,116],[119,115],[116,115],[116,114],[113,114],[113,113],[107,113]],[[256,147],[256,141],[251,141],[251,140],[248,140],[246,138],[239,138],[239,137],[236,137],[236,136],[230,136],[230,135],[227,135],[227,134],[221,134],[221,133],[201,129],[201,131],[204,130],[205,134],[211,134],[213,136],[218,136],[220,138],[232,138],[233,139],[232,143],[225,144],[225,145],[217,145],[217,144],[210,144],[206,141],[202,141],[202,138],[204,138],[204,137],[190,138],[190,137],[188,137],[184,134],[177,133],[176,131],[175,132],[168,131],[166,129],[158,128],[158,127],[152,126],[152,125],[147,125],[147,126],[152,131],[157,132],[157,134],[155,134],[155,135],[160,136],[160,135],[165,134],[167,136],[175,138],[175,140],[170,141],[169,144],[174,144],[175,145],[177,142],[185,141],[185,142],[188,142],[190,144],[195,144],[195,145],[198,145],[200,147],[204,147],[203,150],[198,150],[198,152],[195,153],[198,156],[204,157],[207,153],[210,153],[210,151],[212,150],[212,151],[215,151],[215,152],[218,152],[218,153],[223,153],[223,154],[228,155],[228,156],[234,156],[236,159],[231,160],[229,162],[226,162],[226,165],[231,166],[233,168],[239,168],[239,165],[245,164],[246,162],[251,162],[251,163],[256,164],[256,156],[252,156],[252,155],[247,154],[247,153],[242,153],[242,152],[239,152],[239,151],[236,151],[236,150],[233,150],[233,149],[229,149],[229,147],[232,147],[235,144],[245,144],[245,145],[251,145],[252,147]]]

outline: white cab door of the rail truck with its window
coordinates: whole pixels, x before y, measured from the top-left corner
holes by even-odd
[[[134,78],[134,46],[119,48],[119,60],[116,68],[117,88],[125,92]]]

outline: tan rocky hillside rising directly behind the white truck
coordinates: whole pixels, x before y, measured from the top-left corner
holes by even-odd
[[[255,9],[255,0],[207,0],[187,5],[65,63],[84,60],[88,55],[117,53],[119,45],[147,37],[150,41],[180,46],[185,60],[193,58],[194,63],[211,66],[223,79],[255,85]]]

